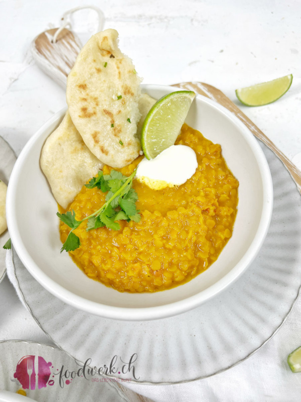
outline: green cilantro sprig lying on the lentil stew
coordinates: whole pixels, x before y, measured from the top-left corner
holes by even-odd
[[[104,175],[103,172],[99,170],[97,176],[93,177],[85,186],[87,188],[97,187],[102,192],[107,192],[104,205],[81,221],[76,219],[73,210],[66,212],[66,214],[57,213],[59,219],[71,228],[61,248],[61,253],[64,250],[74,251],[80,246],[79,237],[76,236],[73,231],[86,220],[88,221],[87,232],[103,226],[112,230],[119,230],[120,225],[116,221],[140,221],[139,210],[136,209],[138,196],[136,191],[132,188],[132,181],[135,174],[136,170],[127,177],[123,176],[121,172],[111,170],[110,174]]]

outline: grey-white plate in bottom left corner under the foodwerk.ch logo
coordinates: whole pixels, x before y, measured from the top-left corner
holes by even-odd
[[[27,370],[28,360],[33,362],[31,389]],[[58,373],[62,367],[63,375],[60,378]],[[77,375],[79,369],[81,366],[72,357],[53,346],[30,341],[2,341],[0,342],[0,401],[146,402],[148,400],[125,389],[121,385],[121,380],[119,383],[99,375],[90,375],[87,369],[85,378],[81,372]],[[68,373],[68,378],[65,377],[66,370],[70,373],[76,372],[75,377],[72,379]],[[39,373],[38,376],[36,372]],[[95,378],[98,378],[98,381]],[[19,390],[25,391],[27,397],[16,394]]]

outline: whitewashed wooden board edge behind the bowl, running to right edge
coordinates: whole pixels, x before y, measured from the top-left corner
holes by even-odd
[[[255,126],[255,124],[244,113],[242,113],[242,111],[234,105],[232,100],[230,100],[222,91],[212,85],[205,84],[204,82],[181,82],[179,84],[174,84],[173,86],[192,90],[200,95],[207,96],[232,112],[245,126],[247,126],[255,137],[262,141],[278,156],[295,181],[298,190],[301,192],[301,172],[299,169],[291,163],[291,161],[273,144],[273,142],[267,138],[266,135],[263,134],[263,132]]]

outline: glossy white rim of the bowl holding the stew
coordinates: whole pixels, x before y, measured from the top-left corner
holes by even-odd
[[[161,90],[166,89],[167,91],[170,91],[171,89],[174,91],[175,89],[177,89],[169,85],[153,85],[153,84],[141,85],[142,91],[146,92],[148,89],[152,90],[158,88]],[[85,311],[93,315],[101,316],[106,319],[114,319],[122,321],[123,320],[147,321],[147,320],[167,318],[192,310],[201,305],[202,303],[204,303],[206,300],[209,300],[210,298],[214,297],[215,295],[223,291],[227,286],[233,283],[247,269],[247,267],[256,257],[267,234],[273,209],[273,186],[267,160],[264,156],[262,149],[260,148],[259,143],[255,139],[251,131],[233,113],[231,113],[225,107],[218,104],[214,100],[209,99],[206,96],[196,94],[196,97],[200,98],[203,102],[213,106],[215,109],[218,110],[219,113],[223,114],[226,118],[230,119],[232,123],[238,126],[248,146],[251,148],[258,164],[262,182],[264,184],[263,207],[256,234],[246,253],[240,259],[240,261],[231,269],[230,272],[228,272],[225,276],[223,276],[213,285],[209,286],[207,289],[202,290],[201,292],[194,294],[192,296],[186,297],[182,300],[179,300],[178,302],[173,302],[155,307],[124,308],[124,307],[103,305],[101,303],[88,300],[82,296],[79,296],[78,294],[73,293],[70,290],[67,290],[65,287],[58,284],[56,281],[54,281],[48,275],[46,275],[46,273],[44,273],[39,268],[39,266],[35,263],[31,255],[26,250],[26,247],[18,231],[18,222],[16,216],[14,215],[14,205],[17,190],[16,182],[22,170],[24,160],[28,156],[28,153],[31,151],[37,139],[40,138],[40,136],[44,134],[45,130],[47,130],[48,127],[51,126],[51,124],[53,124],[57,119],[63,118],[64,114],[67,111],[67,108],[65,107],[61,109],[59,112],[57,112],[54,116],[52,116],[46,123],[44,123],[42,127],[30,138],[30,140],[23,148],[22,152],[20,153],[20,156],[17,159],[17,162],[15,164],[15,167],[13,169],[10,178],[10,183],[7,192],[7,203],[6,203],[7,222],[10,236],[12,239],[13,247],[16,250],[18,256],[20,257],[22,263],[25,265],[25,267],[31,273],[31,275],[45,289],[51,292],[54,296],[61,299],[64,303],[71,305],[79,310]]]

